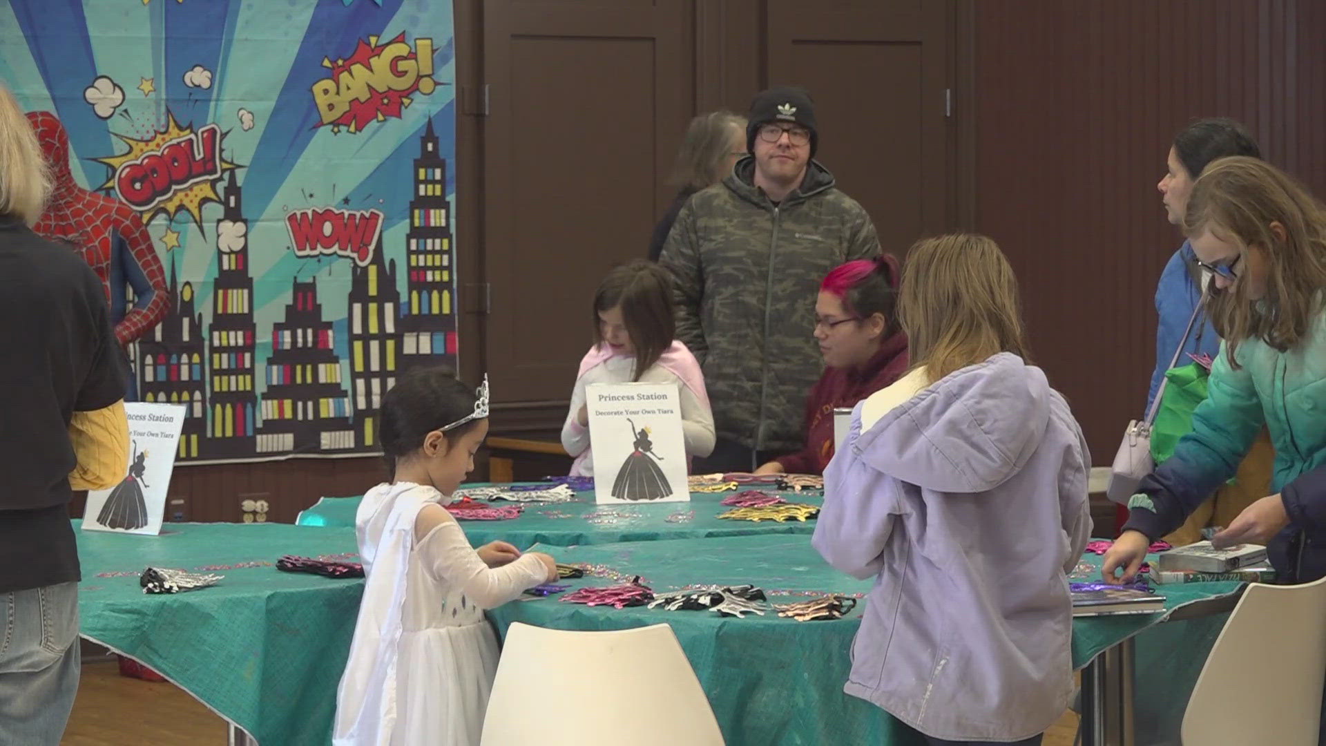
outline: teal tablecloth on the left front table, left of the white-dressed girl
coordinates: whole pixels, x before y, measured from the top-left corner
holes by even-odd
[[[142,661],[263,746],[328,743],[363,580],[280,572],[281,555],[354,552],[353,528],[167,523],[160,536],[80,531],[82,636]],[[236,568],[241,563],[272,563]],[[217,585],[150,596],[147,565]],[[145,706],[151,706],[145,702]]]

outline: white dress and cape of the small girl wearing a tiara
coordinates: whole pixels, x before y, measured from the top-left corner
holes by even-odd
[[[415,542],[419,511],[442,492],[411,483],[365,495],[355,535],[367,580],[337,689],[333,743],[479,743],[497,672],[484,609],[546,580],[533,556],[489,568],[450,515]]]

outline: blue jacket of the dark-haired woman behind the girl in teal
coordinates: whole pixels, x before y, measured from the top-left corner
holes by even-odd
[[[1192,319],[1192,311],[1201,303],[1201,289],[1192,281],[1188,265],[1196,259],[1192,244],[1183,242],[1179,251],[1174,252],[1164,272],[1160,273],[1160,283],[1156,284],[1156,368],[1151,373],[1151,389],[1147,392],[1147,408],[1151,411],[1151,402],[1156,398],[1160,381],[1170,369],[1174,360],[1174,350],[1183,341],[1183,353],[1179,354],[1179,365],[1191,362],[1188,354],[1208,354],[1212,360],[1220,353],[1220,336],[1211,325],[1205,313],[1200,313],[1192,324],[1192,331],[1184,338],[1183,331]]]

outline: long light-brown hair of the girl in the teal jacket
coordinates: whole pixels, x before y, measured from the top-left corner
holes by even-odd
[[[1284,239],[1272,223],[1284,228]],[[1326,208],[1306,188],[1265,161],[1221,158],[1192,186],[1183,230],[1188,238],[1209,230],[1244,251],[1257,247],[1266,259],[1265,297],[1242,297],[1238,289],[1246,280],[1240,275],[1224,291],[1212,285],[1207,299],[1231,365],[1238,366],[1244,340],[1260,338],[1285,352],[1307,336],[1326,289]]]

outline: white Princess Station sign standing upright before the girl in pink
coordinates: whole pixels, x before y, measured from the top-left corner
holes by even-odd
[[[676,384],[590,384],[585,400],[597,502],[691,499]]]

